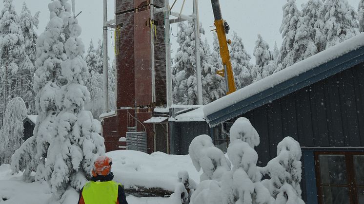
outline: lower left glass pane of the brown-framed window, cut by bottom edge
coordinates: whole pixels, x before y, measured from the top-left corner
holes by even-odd
[[[324,204],[350,204],[349,189],[339,186],[323,186]]]

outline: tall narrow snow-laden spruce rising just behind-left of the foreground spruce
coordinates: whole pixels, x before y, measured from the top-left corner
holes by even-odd
[[[27,167],[36,168],[36,180],[45,178],[44,165],[49,143],[57,135],[56,116],[60,109],[56,105],[56,96],[60,87],[67,83],[61,76],[61,62],[67,59],[64,43],[66,37],[70,35],[68,26],[72,16],[71,5],[67,0],[52,1],[48,4],[48,9],[50,20],[36,44],[37,70],[33,82],[33,89],[37,93],[36,109],[38,112],[36,127],[33,131],[36,148],[34,148],[35,152],[31,152],[34,154],[32,158],[35,159],[31,165],[27,165]],[[25,146],[24,148],[28,149]]]

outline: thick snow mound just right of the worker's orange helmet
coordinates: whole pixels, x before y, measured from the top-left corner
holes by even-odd
[[[111,170],[115,175],[114,180],[125,187],[141,185],[174,191],[181,170],[186,170],[190,178],[200,182],[201,173],[196,171],[188,155],[168,155],[162,152],[149,155],[132,150],[112,151],[106,155],[113,160]]]

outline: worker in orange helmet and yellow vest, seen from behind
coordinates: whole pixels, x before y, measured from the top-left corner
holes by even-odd
[[[91,181],[80,192],[79,204],[128,204],[124,188],[113,181],[111,158],[100,156],[94,162]]]

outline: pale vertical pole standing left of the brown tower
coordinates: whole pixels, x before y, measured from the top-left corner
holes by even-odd
[[[107,0],[103,0],[103,97],[105,112],[109,111],[109,91],[108,91],[108,67],[107,67]]]

